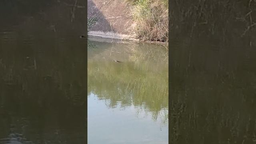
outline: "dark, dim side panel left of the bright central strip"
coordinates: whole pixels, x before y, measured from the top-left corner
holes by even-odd
[[[4,0],[0,11],[0,144],[86,143],[86,22],[71,23],[61,0]]]

